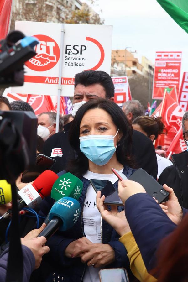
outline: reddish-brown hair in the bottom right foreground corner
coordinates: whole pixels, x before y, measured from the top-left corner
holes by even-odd
[[[158,251],[158,263],[150,274],[158,282],[188,281],[188,214],[182,219],[180,225],[161,243]],[[146,280],[147,281],[147,280]]]

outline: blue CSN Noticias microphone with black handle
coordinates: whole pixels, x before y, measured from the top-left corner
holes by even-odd
[[[59,199],[50,210],[50,222],[37,237],[44,236],[49,239],[58,229],[60,231],[70,229],[77,222],[80,210],[80,203],[76,199],[70,197]]]

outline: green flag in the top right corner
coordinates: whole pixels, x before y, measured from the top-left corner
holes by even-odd
[[[157,2],[188,33],[188,1],[157,0]]]

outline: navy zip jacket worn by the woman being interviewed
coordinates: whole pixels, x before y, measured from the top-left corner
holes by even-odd
[[[125,166],[123,173],[126,176],[133,174],[135,170]],[[64,173],[60,172],[59,175]],[[81,263],[80,258],[67,258],[64,255],[66,247],[74,240],[85,236],[83,231],[83,218],[82,209],[85,202],[85,195],[87,188],[90,185],[90,181],[84,177],[81,177],[83,181],[83,190],[79,198],[81,205],[81,214],[76,224],[65,232],[56,232],[46,243],[50,247],[50,253],[44,256],[41,264],[41,276],[43,281],[58,281],[62,280],[65,282],[77,282],[82,281],[85,271],[86,264]],[[118,189],[118,181],[114,184],[115,189]],[[54,200],[50,197],[46,198],[41,204],[40,215],[46,216],[53,205]],[[119,211],[123,210],[123,206],[118,207]],[[102,220],[102,243],[109,244],[115,251],[115,262],[107,265],[107,268],[125,267],[130,277],[133,274],[130,272],[129,260],[127,257],[127,251],[124,245],[118,241],[119,235],[117,232],[104,220]]]

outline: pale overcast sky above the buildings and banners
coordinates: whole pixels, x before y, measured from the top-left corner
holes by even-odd
[[[84,2],[84,1],[82,1]],[[112,49],[135,51],[154,63],[155,51],[182,51],[181,76],[188,71],[188,34],[156,0],[98,0],[105,24],[113,26]]]

